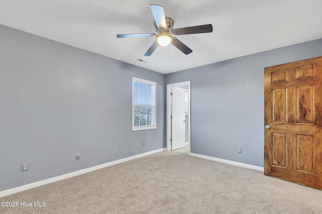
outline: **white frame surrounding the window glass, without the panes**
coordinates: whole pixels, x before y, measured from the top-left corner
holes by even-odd
[[[135,105],[134,105],[134,82],[143,83],[143,84],[151,86],[151,95],[153,96],[153,98],[151,99],[151,101],[152,101],[152,103],[151,103],[151,106],[152,106],[151,125],[134,126],[134,107],[135,107]],[[132,115],[132,131],[156,129],[156,82],[132,77],[132,114],[131,115]]]

